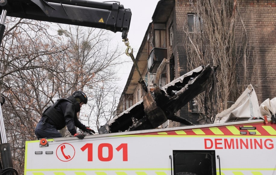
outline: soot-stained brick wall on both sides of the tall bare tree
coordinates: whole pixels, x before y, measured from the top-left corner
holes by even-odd
[[[247,50],[247,78],[246,84],[252,84],[257,93],[259,104],[267,98],[276,97],[276,1],[244,0],[238,10],[245,24],[248,35]],[[194,13],[188,0],[175,0],[175,9],[168,19],[175,25],[175,37],[172,52],[175,57],[176,78],[187,71],[186,50],[183,47],[183,23],[187,14]],[[244,35],[241,35],[243,26],[236,13],[235,19],[236,41],[238,48],[242,47]],[[168,26],[168,25],[167,25]],[[243,57],[240,55],[238,64],[238,81],[243,81]],[[189,104],[185,105],[179,115],[197,124],[198,115],[192,114]],[[170,127],[175,124],[170,123]],[[177,124],[176,124],[177,125]]]

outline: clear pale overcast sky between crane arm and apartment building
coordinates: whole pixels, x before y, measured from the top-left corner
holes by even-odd
[[[93,1],[105,2],[102,0],[93,0]],[[149,23],[152,22],[151,17],[154,13],[154,10],[156,8],[158,1],[159,0],[137,0],[137,1],[120,0],[119,1],[120,4],[124,6],[124,8],[130,8],[132,13],[129,32],[128,32],[128,40],[129,40],[130,46],[133,48],[134,57],[136,57],[137,51],[141,46],[142,40],[144,38],[146,30],[148,29]],[[121,45],[123,48],[126,48],[125,44],[122,42],[122,33],[116,32],[114,33],[114,36],[116,40],[119,42],[119,45]],[[123,55],[123,57],[131,61],[131,58],[126,56],[125,54]],[[132,65],[133,65],[132,62],[125,63],[118,72],[119,77],[122,78],[122,81],[120,81],[122,90],[125,87]]]

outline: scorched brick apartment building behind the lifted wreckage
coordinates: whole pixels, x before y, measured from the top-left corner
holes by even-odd
[[[249,61],[247,65],[254,80],[250,82],[254,85],[258,99],[264,101],[267,98],[275,97],[276,90],[276,1],[265,0],[232,0],[236,9],[235,23],[240,23],[238,20],[243,18],[243,25],[246,29],[248,47],[251,49],[251,54],[248,54],[247,59],[254,57],[255,62],[252,64]],[[196,1],[189,0],[160,0],[157,3],[152,22],[149,23],[148,29],[144,29],[145,35],[141,46],[136,55],[136,62],[139,67],[146,85],[150,91],[153,90],[153,80],[156,76],[157,68],[163,59],[167,59],[166,66],[160,74],[159,86],[162,87],[180,76],[189,72],[188,65],[189,55],[184,47],[183,41],[187,40],[186,32],[198,32],[199,25],[204,24],[204,20],[195,12]],[[198,1],[199,3],[200,1]],[[219,9],[216,9],[219,10]],[[221,10],[221,9],[220,9]],[[187,26],[185,32],[183,26]],[[238,29],[238,28],[237,28]],[[236,31],[237,31],[236,29]],[[204,31],[202,35],[204,35]],[[235,35],[239,35],[239,31]],[[236,45],[242,45],[244,42],[241,39],[236,42]],[[203,51],[204,53],[204,51]],[[212,65],[212,58],[207,61]],[[242,60],[242,59],[241,59]],[[243,81],[243,62],[237,61],[237,82],[241,84]],[[251,65],[250,65],[251,64]],[[206,65],[204,65],[206,66]],[[219,74],[220,72],[217,71]],[[117,115],[138,103],[142,97],[142,87],[138,83],[140,76],[132,66],[127,83],[120,97],[117,107]],[[176,115],[191,121],[193,124],[198,124],[200,111],[193,100],[185,104]],[[183,125],[170,120],[163,123],[160,127],[176,127]]]

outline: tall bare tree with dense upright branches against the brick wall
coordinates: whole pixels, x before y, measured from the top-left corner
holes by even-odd
[[[184,46],[188,55],[187,67],[192,70],[208,63],[219,66],[217,70],[217,110],[220,112],[232,105],[248,81],[248,74],[244,73],[243,84],[239,89],[237,63],[242,57],[244,60],[243,70],[247,72],[248,60],[246,58],[250,55],[248,35],[242,17],[240,14],[236,15],[237,0],[190,0],[190,4],[194,8],[195,14],[187,19],[187,25],[183,27],[186,33]],[[240,23],[235,22],[237,16]],[[193,21],[193,26],[189,26],[188,21]],[[236,32],[235,28],[238,26],[242,26],[242,30],[240,30],[242,32]],[[205,98],[204,94],[201,94],[195,98],[195,102],[205,117],[205,121],[211,123],[214,120],[211,116],[214,115],[210,115],[209,112],[213,102],[206,99],[210,100],[211,98]],[[204,109],[203,104],[207,108]],[[217,111],[215,112],[217,113]]]

